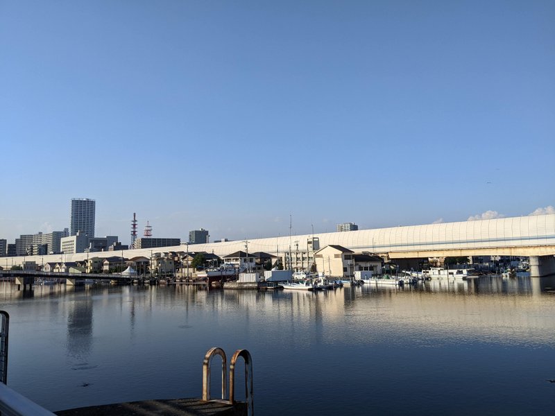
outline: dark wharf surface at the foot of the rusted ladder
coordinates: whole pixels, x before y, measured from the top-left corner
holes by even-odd
[[[54,412],[58,416],[244,416],[244,403],[200,399],[130,401]]]

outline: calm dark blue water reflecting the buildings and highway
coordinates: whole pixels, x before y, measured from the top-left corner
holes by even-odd
[[[50,410],[200,397],[204,354],[219,346],[252,354],[257,415],[552,415],[551,288],[481,277],[329,293],[57,285],[24,297],[2,282],[8,385]]]

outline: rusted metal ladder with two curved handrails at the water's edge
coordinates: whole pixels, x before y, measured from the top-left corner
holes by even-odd
[[[225,351],[219,347],[214,347],[208,350],[203,361],[203,401],[210,401],[210,364],[214,356],[221,356],[221,400],[225,403],[234,405],[237,403],[235,400],[235,364],[237,358],[242,357],[245,361],[245,395],[247,416],[254,415],[254,395],[253,395],[253,358],[246,349],[237,349],[233,354],[230,362],[230,395],[229,400],[227,396],[227,380],[228,380],[228,360],[225,356]]]

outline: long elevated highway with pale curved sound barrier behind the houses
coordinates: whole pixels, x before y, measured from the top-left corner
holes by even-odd
[[[555,214],[248,239],[248,252],[267,252],[282,256],[284,252],[311,253],[330,244],[341,245],[354,252],[375,253],[390,259],[479,255],[526,256],[530,257],[532,275],[552,275],[555,273]],[[25,260],[35,261],[40,265],[47,261],[78,261],[87,259],[87,256],[123,255],[126,258],[150,258],[157,252],[187,251],[213,252],[223,257],[239,250],[246,250],[245,241],[182,244],[175,247],[122,252],[53,254],[26,257]],[[22,264],[23,260],[23,257],[0,258],[0,266],[10,268],[11,265]]]

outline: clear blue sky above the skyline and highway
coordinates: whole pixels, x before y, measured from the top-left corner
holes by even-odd
[[[0,239],[555,209],[555,2],[0,0]]]

